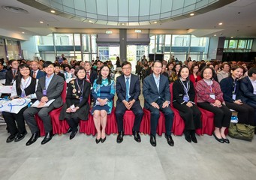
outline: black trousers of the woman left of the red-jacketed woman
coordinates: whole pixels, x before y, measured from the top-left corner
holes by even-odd
[[[193,107],[188,107],[185,104],[173,102],[173,107],[179,110],[179,115],[185,122],[186,130],[196,130],[202,126],[201,112],[197,105],[193,104]]]

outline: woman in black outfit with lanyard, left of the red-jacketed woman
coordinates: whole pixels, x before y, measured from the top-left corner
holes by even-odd
[[[173,83],[173,107],[179,110],[179,115],[185,122],[185,139],[197,143],[195,130],[201,127],[201,113],[194,103],[194,84],[189,80],[188,67],[183,66],[178,77]]]

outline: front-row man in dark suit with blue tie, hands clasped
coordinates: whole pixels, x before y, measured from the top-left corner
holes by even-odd
[[[131,110],[135,115],[133,135],[137,142],[140,142],[140,122],[143,118],[143,110],[140,107],[140,80],[134,74],[131,74],[131,63],[122,63],[123,75],[116,78],[116,121],[119,134],[116,142],[121,143],[124,136],[123,117],[126,110]]]

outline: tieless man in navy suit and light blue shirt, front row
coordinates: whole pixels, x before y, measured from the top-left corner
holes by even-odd
[[[150,143],[156,146],[155,133],[158,126],[160,112],[165,117],[165,138],[170,146],[174,145],[170,135],[173,127],[173,111],[170,110],[170,86],[168,78],[161,74],[162,62],[155,61],[152,64],[153,73],[143,81],[143,96],[145,99],[144,107],[150,111]]]

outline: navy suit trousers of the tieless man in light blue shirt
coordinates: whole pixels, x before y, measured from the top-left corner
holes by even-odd
[[[170,135],[171,129],[173,127],[173,111],[170,110],[169,107],[163,108],[164,101],[161,99],[158,99],[156,102],[159,106],[159,110],[155,107],[152,107],[150,105],[149,111],[150,111],[150,134],[155,136],[156,128],[158,127],[158,120],[160,117],[160,112],[164,113],[165,118],[165,132],[167,135]]]

